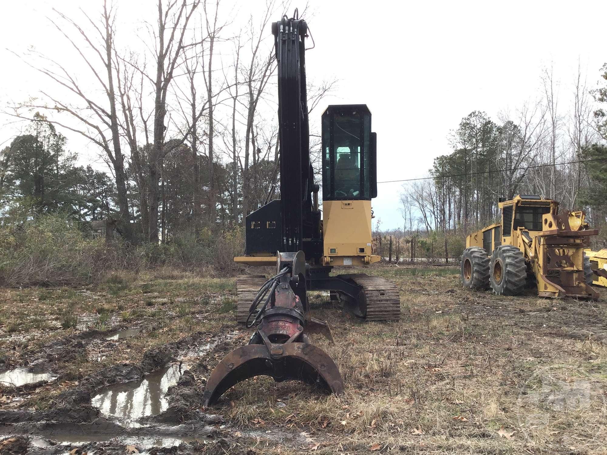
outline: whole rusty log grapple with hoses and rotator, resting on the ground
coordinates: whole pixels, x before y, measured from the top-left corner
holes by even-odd
[[[234,349],[211,372],[203,405],[217,402],[236,383],[262,375],[276,382],[300,380],[325,393],[343,393],[335,362],[308,339],[308,333],[317,332],[333,341],[327,323],[310,317],[305,268],[304,252],[277,254],[277,274],[266,281],[249,309],[246,326],[256,326],[256,331],[248,345]]]

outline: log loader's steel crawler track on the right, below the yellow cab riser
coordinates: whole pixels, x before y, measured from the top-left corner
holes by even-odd
[[[364,291],[367,321],[398,321],[401,318],[401,298],[392,281],[370,275],[352,275],[351,279]]]

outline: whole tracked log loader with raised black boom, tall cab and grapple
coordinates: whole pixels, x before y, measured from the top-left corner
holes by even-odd
[[[237,279],[237,320],[254,328],[248,345],[230,352],[211,372],[203,402],[212,405],[232,385],[260,375],[302,380],[341,394],[337,366],[308,334],[332,340],[325,322],[310,315],[307,291],[369,321],[398,320],[398,288],[365,274],[331,276],[333,266],[362,266],[371,254],[371,198],[377,195],[376,135],[364,104],[329,106],[322,114],[322,200],[310,163],[305,79],[307,24],[283,16],[272,24],[278,62],[280,199],[245,218],[246,252],[237,263],[276,265],[270,279]],[[322,215],[322,216],[321,216]],[[322,219],[321,219],[322,218]]]

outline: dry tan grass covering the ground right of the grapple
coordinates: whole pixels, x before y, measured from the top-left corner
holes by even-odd
[[[598,340],[555,337],[548,313],[527,314],[555,301],[470,293],[457,275],[381,272],[401,289],[401,322],[360,323],[328,309],[328,298],[316,311],[336,344],[314,343],[336,361],[344,396],[255,378],[228,393],[232,425],[307,431],[321,453],[368,453],[376,444],[381,453],[558,452],[565,441],[579,453],[603,450],[606,349]],[[551,319],[564,332],[567,322],[596,316],[583,303],[561,303],[569,309]],[[502,426],[510,439],[500,436]],[[268,453],[290,453],[288,445],[273,447]]]

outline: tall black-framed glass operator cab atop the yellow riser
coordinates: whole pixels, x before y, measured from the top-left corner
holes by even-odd
[[[365,104],[327,107],[322,115],[322,200],[377,196],[376,135]]]

